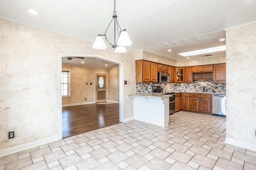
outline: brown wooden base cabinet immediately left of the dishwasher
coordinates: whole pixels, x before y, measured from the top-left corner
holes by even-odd
[[[212,113],[212,95],[200,94],[200,110],[202,113]]]

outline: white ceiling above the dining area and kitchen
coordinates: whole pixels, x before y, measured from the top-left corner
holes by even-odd
[[[40,15],[25,8],[34,8]],[[225,38],[223,29],[256,22],[255,9],[256,0],[116,0],[118,22],[133,43],[127,50],[174,60],[188,60],[178,53],[225,45],[218,41]],[[105,32],[113,11],[114,0],[0,0],[3,19],[92,42]],[[113,27],[109,30],[112,42]],[[208,54],[190,59],[203,55]]]

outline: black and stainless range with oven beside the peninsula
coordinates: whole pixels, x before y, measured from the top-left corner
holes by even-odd
[[[152,86],[152,92],[172,95],[169,97],[169,114],[175,113],[175,92],[163,92],[163,88],[161,86]]]

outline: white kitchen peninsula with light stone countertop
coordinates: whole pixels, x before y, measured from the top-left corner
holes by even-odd
[[[156,93],[131,94],[134,119],[165,127],[169,124],[169,97]]]

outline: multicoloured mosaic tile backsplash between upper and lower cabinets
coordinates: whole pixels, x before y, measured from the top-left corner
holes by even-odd
[[[168,92],[217,92],[226,93],[226,83],[212,80],[195,80],[194,83],[136,83],[136,94],[152,92],[152,86],[162,86]]]

